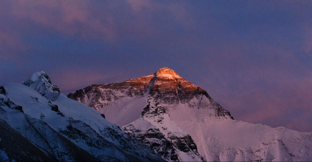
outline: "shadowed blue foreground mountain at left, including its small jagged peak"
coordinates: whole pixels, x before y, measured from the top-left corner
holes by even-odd
[[[0,87],[0,161],[163,161],[48,75]]]

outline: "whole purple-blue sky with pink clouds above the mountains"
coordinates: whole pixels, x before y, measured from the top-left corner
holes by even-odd
[[[68,94],[169,67],[236,120],[312,131],[312,1],[0,2],[0,85]]]

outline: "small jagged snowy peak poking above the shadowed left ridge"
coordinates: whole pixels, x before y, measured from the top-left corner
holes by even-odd
[[[53,86],[50,77],[44,72],[35,72],[23,85],[29,86],[38,91],[42,96],[47,99],[55,101],[60,96],[60,89],[57,86]]]

